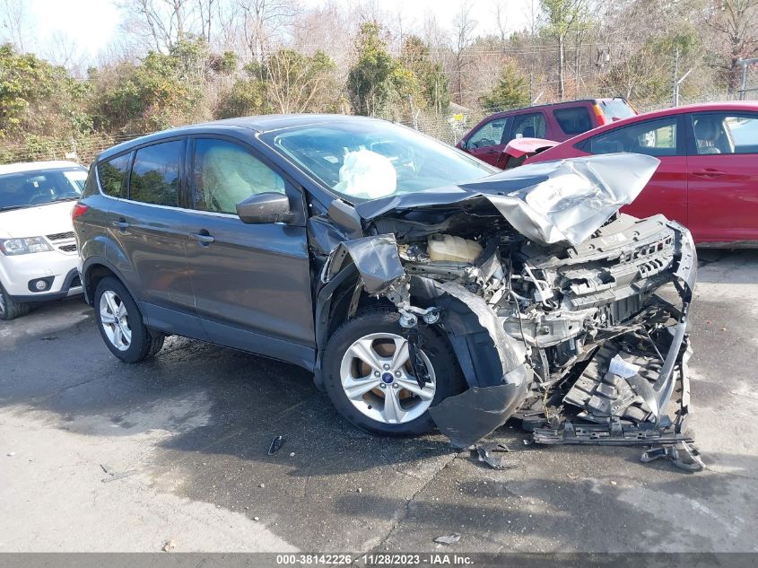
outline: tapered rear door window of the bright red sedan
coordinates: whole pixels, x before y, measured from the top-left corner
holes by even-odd
[[[633,152],[649,156],[679,154],[676,141],[676,117],[651,120],[631,127],[617,128],[588,141],[589,153]]]

